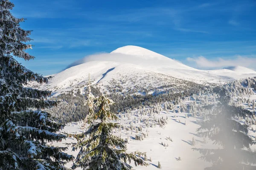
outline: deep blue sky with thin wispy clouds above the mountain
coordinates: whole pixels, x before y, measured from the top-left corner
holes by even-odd
[[[256,70],[255,0],[11,0],[48,75],[86,55],[138,45],[200,69]],[[212,63],[212,65],[209,65]]]

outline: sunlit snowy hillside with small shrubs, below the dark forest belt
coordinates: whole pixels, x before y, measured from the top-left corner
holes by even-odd
[[[246,99],[255,100],[256,95],[247,97]],[[210,98],[209,98],[210,99]],[[190,105],[193,99],[184,101],[182,105]],[[159,113],[150,112],[149,108],[138,109],[131,113],[122,113],[119,123],[124,127],[122,130],[117,130],[116,135],[122,136],[124,139],[128,139],[128,152],[134,152],[140,150],[146,152],[148,160],[146,161],[148,167],[135,167],[136,170],[157,170],[157,163],[160,161],[163,170],[203,170],[205,167],[211,165],[211,163],[200,159],[201,154],[192,148],[211,148],[216,149],[218,145],[213,144],[209,139],[204,139],[198,136],[197,128],[200,127],[200,121],[204,119],[204,116],[192,116],[187,112],[180,112],[181,105],[176,106],[176,109],[164,111],[164,105],[162,109],[156,106]],[[247,106],[247,103],[242,104],[243,107],[252,111],[251,107]],[[161,111],[162,110],[162,111]],[[203,114],[204,115],[204,114]],[[167,119],[164,126],[153,125],[154,120]],[[149,121],[145,121],[149,120]],[[157,121],[156,121],[157,122]],[[245,123],[244,120],[240,121]],[[150,125],[148,127],[148,125]],[[153,125],[153,127],[151,127]],[[62,132],[68,132],[72,134],[81,133],[81,122],[68,124]],[[142,130],[138,131],[139,127]],[[131,129],[134,128],[134,129]],[[255,129],[256,125],[250,125],[249,129]],[[147,136],[143,140],[137,140],[136,136],[142,133],[147,133]],[[256,131],[249,130],[248,135],[255,139]],[[193,142],[193,138],[195,142]],[[72,138],[67,138],[63,142],[55,142],[55,145],[64,146],[65,143],[75,142]],[[256,145],[250,146],[252,150],[256,149]],[[70,148],[67,153],[76,155],[78,151],[72,151]],[[181,160],[178,160],[178,157]],[[151,159],[151,161],[150,161]],[[67,167],[71,167],[73,162],[69,162]],[[80,170],[79,168],[77,170]]]

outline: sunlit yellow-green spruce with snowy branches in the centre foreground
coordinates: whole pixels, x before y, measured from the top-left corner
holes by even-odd
[[[80,150],[73,169],[81,167],[84,170],[131,170],[128,162],[131,163],[132,160],[136,166],[147,165],[143,159],[136,156],[143,153],[126,153],[127,141],[112,134],[119,125],[111,122],[117,120],[117,116],[110,111],[111,104],[111,99],[105,96],[97,97],[96,111],[87,115],[87,123],[90,125],[87,131],[69,135],[77,140],[77,143],[71,144],[73,150]]]

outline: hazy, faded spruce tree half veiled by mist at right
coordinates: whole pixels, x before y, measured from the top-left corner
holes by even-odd
[[[224,88],[215,88],[218,103],[212,107],[209,119],[204,121],[198,134],[208,137],[219,149],[197,149],[205,161],[212,167],[206,170],[255,170],[256,153],[250,151],[253,140],[247,136],[247,125],[237,121],[238,117],[252,116],[253,113],[241,107],[230,105],[229,92]],[[247,150],[246,150],[247,149]]]

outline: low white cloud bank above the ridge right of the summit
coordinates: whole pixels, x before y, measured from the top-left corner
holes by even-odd
[[[256,56],[243,57],[235,56],[231,59],[207,59],[204,56],[188,57],[186,58],[190,64],[195,64],[198,68],[212,69],[212,68],[224,68],[229,66],[244,66],[256,70]]]

